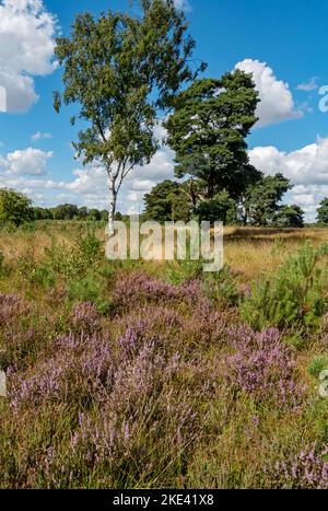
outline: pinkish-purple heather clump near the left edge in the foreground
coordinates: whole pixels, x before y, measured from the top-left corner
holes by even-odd
[[[113,353],[108,339],[97,335],[68,334],[56,341],[57,353],[10,382],[14,410],[44,402],[101,400],[113,379]]]

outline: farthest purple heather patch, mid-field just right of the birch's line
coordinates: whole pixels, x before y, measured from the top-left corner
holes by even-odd
[[[195,304],[203,298],[201,283],[189,281],[180,286],[172,286],[167,282],[156,280],[144,274],[121,275],[117,279],[112,293],[112,305],[114,310],[129,310],[150,302],[178,302]]]

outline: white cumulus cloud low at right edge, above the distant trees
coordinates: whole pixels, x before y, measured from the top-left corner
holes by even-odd
[[[315,220],[316,209],[328,196],[328,139],[296,151],[279,151],[276,147],[257,147],[249,151],[253,165],[265,174],[281,172],[295,185],[289,202],[301,206],[308,220]]]

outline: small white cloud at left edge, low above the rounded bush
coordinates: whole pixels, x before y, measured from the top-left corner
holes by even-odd
[[[45,174],[47,160],[52,158],[52,152],[27,148],[10,152],[5,158],[0,156],[0,167],[7,175],[39,176]]]

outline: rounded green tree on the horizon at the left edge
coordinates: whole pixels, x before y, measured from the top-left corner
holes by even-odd
[[[32,202],[23,194],[10,188],[0,189],[0,221],[20,225],[33,220]]]

